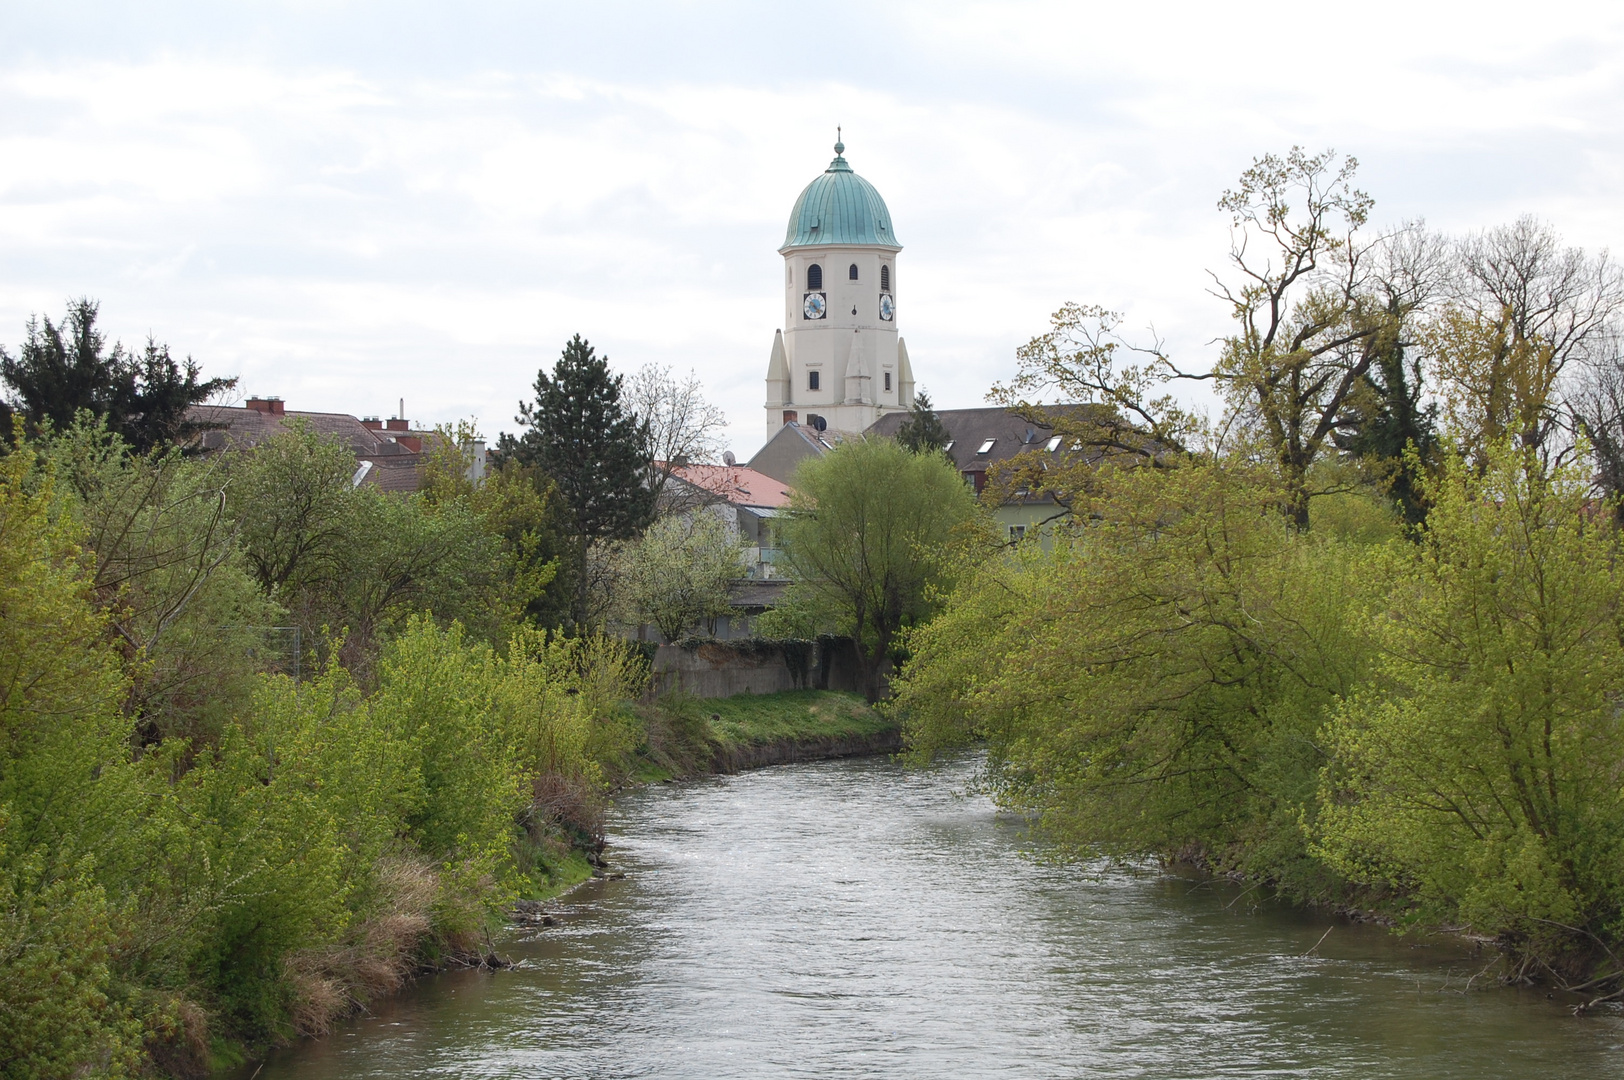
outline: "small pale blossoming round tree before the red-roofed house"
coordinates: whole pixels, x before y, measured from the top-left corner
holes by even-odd
[[[737,534],[710,510],[659,518],[620,557],[619,593],[630,622],[667,642],[726,616],[728,583],[744,577]]]

